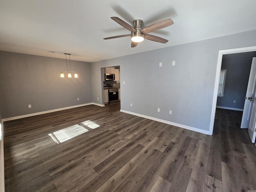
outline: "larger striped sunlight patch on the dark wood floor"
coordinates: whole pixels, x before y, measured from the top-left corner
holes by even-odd
[[[71,138],[74,138],[80,134],[87,132],[88,130],[78,124],[55,131],[53,133],[49,133],[48,135],[56,142],[62,143]]]

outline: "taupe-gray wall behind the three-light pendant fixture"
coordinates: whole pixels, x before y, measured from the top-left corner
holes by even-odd
[[[90,63],[72,60],[71,67],[78,78],[60,78],[65,59],[0,51],[1,117],[92,102]]]

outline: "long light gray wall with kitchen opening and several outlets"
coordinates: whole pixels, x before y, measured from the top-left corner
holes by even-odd
[[[255,46],[255,36],[252,30],[94,62],[93,102],[102,104],[101,68],[120,65],[122,110],[209,131],[218,51]]]

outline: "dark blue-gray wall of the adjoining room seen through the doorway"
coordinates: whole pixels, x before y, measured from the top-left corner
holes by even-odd
[[[244,108],[244,97],[252,65],[252,57],[236,57],[222,60],[222,69],[226,69],[224,97],[218,97],[217,106]],[[236,103],[234,103],[236,100]]]

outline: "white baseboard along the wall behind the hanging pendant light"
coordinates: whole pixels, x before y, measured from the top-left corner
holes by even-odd
[[[37,112],[37,113],[31,113],[31,114],[26,114],[26,115],[21,115],[21,116],[16,116],[16,117],[10,117],[10,118],[5,118],[2,119],[2,122],[4,121],[10,121],[10,120],[16,120],[16,119],[21,119],[25,117],[31,117],[31,116],[36,116],[36,115],[42,115],[46,113],[51,113],[51,112],[56,112],[56,111],[61,111],[61,110],[66,110],[66,109],[72,109],[76,107],[82,107],[82,106],[87,106],[87,105],[97,105],[100,107],[104,107],[105,105],[98,104],[98,103],[86,103],[86,104],[81,104],[81,105],[75,105],[75,106],[69,106],[69,107],[64,107],[64,108],[59,108],[59,109],[53,109],[53,110],[48,110],[48,111],[42,111],[42,112]]]

